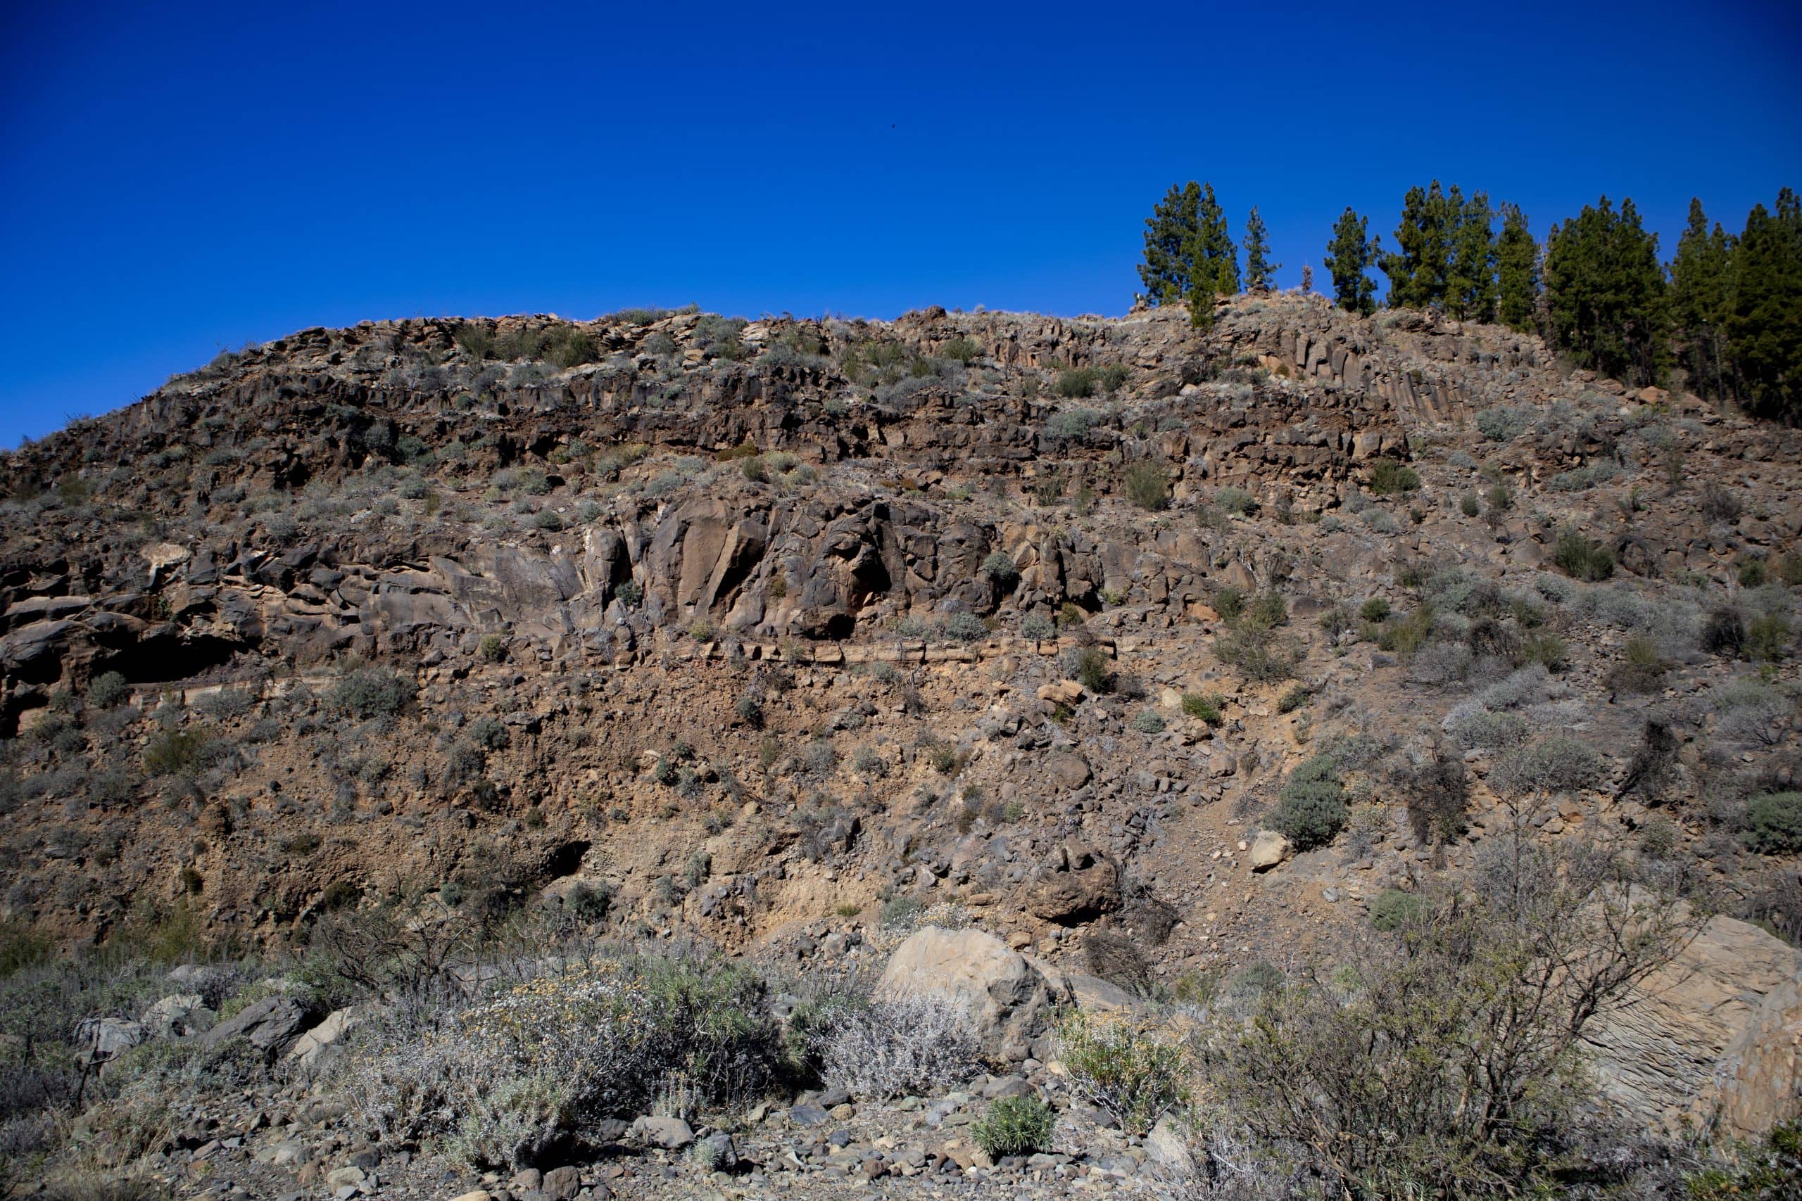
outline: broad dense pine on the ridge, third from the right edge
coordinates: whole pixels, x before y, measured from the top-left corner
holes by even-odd
[[[1652,384],[1665,366],[1665,270],[1658,234],[1631,200],[1598,205],[1546,236],[1546,319],[1579,367]]]

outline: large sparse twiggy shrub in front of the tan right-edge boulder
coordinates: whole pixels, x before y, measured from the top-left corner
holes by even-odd
[[[1195,1046],[1215,1107],[1321,1196],[1564,1196],[1573,1147],[1602,1129],[1579,1071],[1589,1023],[1699,926],[1586,850],[1497,846],[1413,915],[1384,902],[1406,938],[1294,972],[1251,1021],[1213,1017]]]

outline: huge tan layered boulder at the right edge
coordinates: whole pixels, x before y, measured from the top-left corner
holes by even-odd
[[[1802,1113],[1802,951],[1712,918],[1588,1041],[1602,1091],[1634,1118],[1762,1133]]]

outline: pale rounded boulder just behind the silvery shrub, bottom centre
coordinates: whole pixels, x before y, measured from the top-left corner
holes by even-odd
[[[1061,978],[1009,951],[995,935],[937,926],[896,947],[876,996],[948,998],[969,1010],[984,1050],[1009,1062],[1025,1059],[1052,1010],[1074,1001]]]

